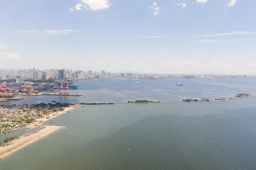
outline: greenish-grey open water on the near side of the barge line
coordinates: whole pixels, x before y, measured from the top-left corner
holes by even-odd
[[[79,107],[52,120],[65,129],[7,156],[0,169],[256,169],[255,102]]]

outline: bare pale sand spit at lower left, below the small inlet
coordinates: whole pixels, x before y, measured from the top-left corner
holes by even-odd
[[[48,135],[49,133],[54,132],[55,130],[60,129],[59,126],[42,126],[44,129],[39,130],[36,133],[30,131],[22,136],[19,139],[15,139],[10,141],[9,143],[5,144],[5,146],[0,147],[0,158],[3,158],[10,153],[15,152],[18,149],[25,147],[28,144],[31,144],[34,141],[39,140],[40,138]]]

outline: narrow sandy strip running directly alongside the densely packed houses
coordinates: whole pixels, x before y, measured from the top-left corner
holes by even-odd
[[[83,106],[83,104],[74,104],[72,106],[65,107],[64,110],[62,110],[62,111],[52,112],[51,114],[49,114],[49,117],[46,116],[44,118],[37,118],[36,121],[34,121],[30,124],[27,124],[23,127],[17,127],[15,129],[9,130],[8,132],[5,132],[5,133],[0,133],[0,135],[4,135],[4,134],[10,133],[10,132],[13,132],[15,130],[24,129],[24,128],[30,128],[29,130],[31,130],[35,127],[39,127],[40,125],[43,125],[44,122],[46,122],[46,121],[49,121],[53,118],[58,117],[59,115],[62,115],[66,112],[70,112],[71,110],[76,109],[76,108],[81,107],[81,106]]]

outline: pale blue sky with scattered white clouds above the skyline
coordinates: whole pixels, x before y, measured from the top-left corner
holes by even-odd
[[[0,0],[0,69],[256,74],[256,0]]]

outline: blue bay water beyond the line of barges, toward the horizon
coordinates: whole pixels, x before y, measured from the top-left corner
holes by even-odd
[[[134,84],[138,81],[139,84]],[[176,86],[177,83],[183,86]],[[170,79],[170,80],[82,80],[76,81],[77,90],[70,93],[82,96],[20,96],[20,101],[1,104],[34,104],[59,102],[127,102],[127,100],[148,99],[159,101],[181,101],[184,98],[231,97],[249,91],[256,94],[256,79]]]

